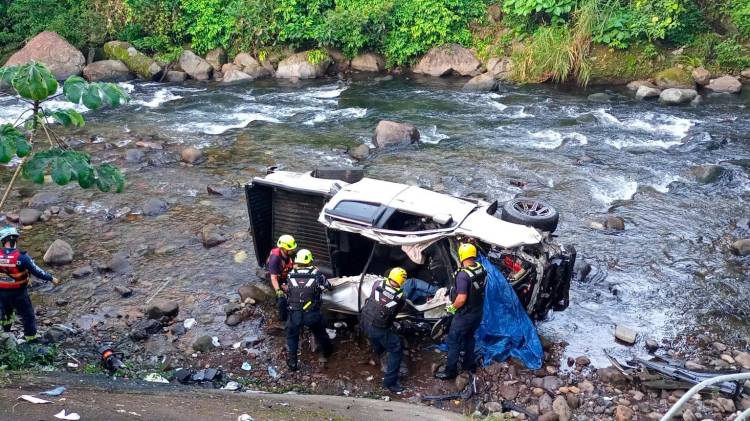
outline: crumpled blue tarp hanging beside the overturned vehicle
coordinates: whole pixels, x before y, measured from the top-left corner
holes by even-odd
[[[484,256],[479,256],[479,262],[487,271],[484,315],[476,333],[485,365],[513,357],[527,368],[540,368],[544,358],[542,342],[526,309],[502,272]]]

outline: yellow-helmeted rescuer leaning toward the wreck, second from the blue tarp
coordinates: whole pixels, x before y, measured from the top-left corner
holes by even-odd
[[[372,292],[362,307],[361,324],[370,338],[373,351],[378,356],[383,352],[388,353],[383,387],[393,393],[404,391],[398,382],[398,371],[403,358],[401,337],[393,325],[396,315],[406,303],[401,289],[404,282],[406,282],[406,271],[400,267],[391,269],[388,278],[372,286]]]

